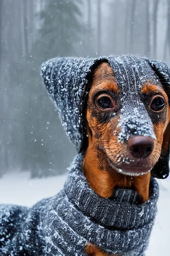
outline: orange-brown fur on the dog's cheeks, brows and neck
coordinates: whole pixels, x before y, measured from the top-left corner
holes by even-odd
[[[142,88],[143,93],[147,93],[152,90],[156,91],[158,89],[159,93],[161,90],[166,100],[166,103],[168,103],[168,97],[165,91],[158,85],[152,85],[147,82]],[[114,120],[109,124],[100,124],[95,116],[92,115],[95,105],[94,93],[99,90],[112,90],[114,93],[119,94],[119,88],[117,87],[113,70],[108,63],[102,63],[99,65],[99,67],[95,69],[93,79],[90,84],[90,91],[86,107],[86,129],[88,135],[88,147],[85,152],[85,157],[83,161],[84,175],[90,186],[102,197],[111,197],[113,195],[115,187],[135,189],[140,197],[141,203],[143,203],[147,201],[149,197],[149,184],[151,173],[148,172],[147,174],[142,176],[127,176],[114,170],[106,159],[106,153],[109,154],[109,151],[107,152],[108,148],[112,150],[112,154],[110,154],[109,156],[114,159],[114,162],[116,162],[117,160],[116,154],[118,149],[119,152],[122,152],[122,154],[126,154],[127,148],[124,147],[124,145],[122,145],[121,143],[118,143],[117,141],[117,134],[119,132],[117,127],[119,116],[114,118]],[[97,111],[100,110],[96,108],[96,112]],[[166,119],[167,121],[165,124],[159,123],[158,125],[153,126],[157,140],[154,146],[154,150],[149,158],[149,164],[152,167],[155,165],[160,157],[162,143],[165,147],[167,147],[167,142],[165,139],[166,134],[164,135],[164,132],[167,124],[170,121],[168,113]],[[111,132],[113,130],[116,131],[115,135],[113,135],[113,132]],[[106,153],[104,150],[102,150],[102,148],[106,150]],[[88,255],[93,256],[108,255],[107,253],[102,252],[100,248],[92,243],[87,244],[85,251]]]

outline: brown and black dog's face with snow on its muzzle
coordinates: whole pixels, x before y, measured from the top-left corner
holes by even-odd
[[[155,72],[149,65],[147,68],[147,74],[135,70],[134,81],[120,73],[119,83],[108,63],[93,71],[86,121],[90,145],[96,147],[103,169],[142,175],[155,166],[163,149],[167,150],[168,96]]]

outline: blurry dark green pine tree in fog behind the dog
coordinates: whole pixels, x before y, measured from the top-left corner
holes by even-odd
[[[68,144],[57,112],[48,99],[40,77],[40,65],[56,56],[76,55],[77,41],[85,26],[79,22],[81,0],[50,0],[40,13],[41,28],[26,72],[23,101],[24,143],[22,168],[31,168],[32,177],[57,174],[69,165],[75,151]],[[56,133],[57,131],[57,133]],[[67,144],[67,147],[64,145]],[[30,166],[31,165],[31,166]]]

